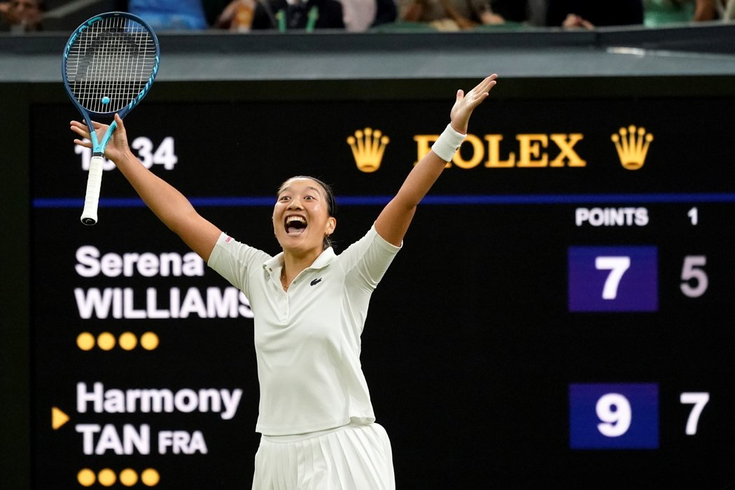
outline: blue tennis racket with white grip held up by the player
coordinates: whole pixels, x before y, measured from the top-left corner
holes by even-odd
[[[143,19],[126,12],[90,18],[69,37],[62,76],[71,101],[90,129],[92,159],[82,223],[97,223],[102,162],[115,131],[115,113],[124,118],[151,89],[158,71],[158,39]],[[92,121],[109,123],[98,140]],[[110,122],[111,121],[111,122]]]

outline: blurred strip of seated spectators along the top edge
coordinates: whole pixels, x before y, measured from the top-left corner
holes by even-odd
[[[0,1],[0,31],[43,29],[44,12],[74,0]],[[735,0],[115,0],[157,30],[595,29],[734,21]]]

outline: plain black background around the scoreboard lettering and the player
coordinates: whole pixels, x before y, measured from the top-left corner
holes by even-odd
[[[131,140],[144,136],[157,145],[173,137],[178,163],[155,171],[203,203],[199,211],[209,220],[271,253],[277,244],[270,204],[212,205],[203,198],[270,198],[291,175],[326,179],[343,203],[339,250],[362,237],[381,209],[355,198],[398,189],[416,159],[414,135],[440,133],[454,90],[472,87],[474,71],[417,84],[401,77],[164,77],[126,126]],[[730,76],[706,74],[566,82],[562,90],[559,80],[501,79],[473,116],[470,133],[503,134],[503,158],[509,151],[517,155],[516,134],[582,133],[574,149],[587,166],[448,168],[373,295],[362,363],[378,422],[391,438],[398,488],[648,483],[722,489],[735,481],[728,151],[735,85]],[[60,82],[7,82],[0,90],[7,101],[0,136],[7,158],[3,226],[9,230],[3,239],[9,306],[3,405],[6,441],[14,441],[4,459],[18,463],[8,488],[78,488],[76,473],[87,467],[155,468],[165,489],[249,488],[258,443],[251,320],[79,318],[75,287],[130,287],[137,298],[154,287],[165,298],[171,287],[227,284],[209,270],[202,278],[76,275],[74,254],[82,245],[120,254],[187,249],[135,200],[123,206],[104,201],[134,197],[114,170],[103,178],[98,225],[82,226],[86,175],[67,130],[78,116]],[[610,140],[630,124],[654,135],[645,165],[635,171],[620,166]],[[390,137],[381,169],[370,174],[356,169],[345,143],[366,126]],[[548,152],[556,156],[553,144]],[[437,203],[446,196],[470,197],[463,204]],[[513,200],[524,196],[535,200]],[[640,206],[648,209],[647,226],[574,223],[577,207]],[[686,215],[694,206],[697,226]],[[658,311],[568,311],[568,248],[598,245],[658,248]],[[707,259],[709,289],[697,299],[680,289],[684,257],[692,255]],[[75,345],[82,331],[155,331],[161,345],[151,352],[82,352]],[[232,420],[212,413],[77,414],[80,381],[101,381],[106,389],[240,388],[243,399]],[[658,449],[570,450],[571,383],[658,383]],[[684,433],[691,406],[679,402],[682,392],[711,397],[695,436]],[[51,429],[51,406],[71,417],[59,430]],[[148,424],[151,455],[84,455],[78,423],[118,430]],[[201,430],[208,454],[157,455],[159,430]]]

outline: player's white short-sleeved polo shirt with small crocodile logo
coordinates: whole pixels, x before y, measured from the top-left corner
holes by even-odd
[[[222,234],[209,256],[250,300],[260,384],[256,430],[284,436],[375,421],[360,365],[370,295],[400,247],[375,229],[336,255],[323,251],[288,292],[273,257]]]

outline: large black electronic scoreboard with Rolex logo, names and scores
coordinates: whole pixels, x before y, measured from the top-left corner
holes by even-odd
[[[362,336],[398,488],[735,480],[732,101],[495,95]],[[152,100],[126,128],[143,165],[270,253],[279,184],[333,184],[339,252],[452,101]],[[248,298],[112,164],[98,225],[79,223],[90,154],[45,130],[71,118],[30,113],[34,488],[249,488]]]

